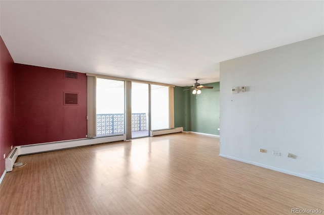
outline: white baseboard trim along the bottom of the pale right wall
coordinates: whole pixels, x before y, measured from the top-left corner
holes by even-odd
[[[288,175],[297,176],[297,177],[308,179],[308,180],[311,180],[311,181],[324,183],[324,179],[315,178],[315,177],[312,177],[312,176],[307,176],[307,175],[304,175],[304,174],[295,173],[295,172],[292,172],[292,171],[288,171],[288,170],[284,170],[284,169],[280,169],[280,168],[276,168],[276,167],[272,167],[272,166],[252,162],[252,161],[246,160],[246,159],[232,157],[232,156],[229,156],[229,155],[226,155],[226,154],[219,154],[219,156],[229,158],[229,159],[233,159],[233,160],[237,160],[239,162],[243,162],[243,163],[247,163],[247,164],[252,164],[254,166],[263,167],[263,168],[266,168],[266,169],[269,169],[269,170],[274,170],[274,171],[277,171],[277,172],[280,172],[280,173],[285,173],[285,174],[288,174]]]

